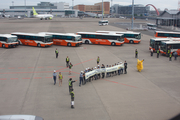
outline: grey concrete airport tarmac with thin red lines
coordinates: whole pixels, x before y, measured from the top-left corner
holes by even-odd
[[[98,26],[98,21],[93,18],[0,19],[0,33],[126,31],[118,26]],[[115,18],[109,21],[128,22]],[[0,115],[29,114],[45,120],[168,120],[176,116],[180,113],[180,59],[170,62],[165,56],[156,58],[155,53],[150,57],[152,37],[142,34],[140,44],[123,46],[0,48]],[[55,58],[56,48],[58,59]],[[135,49],[138,49],[138,58],[145,60],[142,72],[136,68]],[[65,67],[67,56],[74,65],[71,75]],[[127,74],[94,80],[79,87],[80,71],[95,67],[97,56],[100,56],[100,64],[105,65],[126,60]],[[61,87],[58,81],[53,84],[54,70],[64,76]],[[70,108],[70,77],[78,80],[74,83],[75,109]]]

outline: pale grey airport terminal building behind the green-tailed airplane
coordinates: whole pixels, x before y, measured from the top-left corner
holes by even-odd
[[[32,7],[39,14],[52,14],[54,17],[78,17],[78,10],[69,9],[69,3],[65,2],[41,2],[34,6],[10,6],[10,9],[0,9],[0,13],[11,15],[12,17],[33,17]]]

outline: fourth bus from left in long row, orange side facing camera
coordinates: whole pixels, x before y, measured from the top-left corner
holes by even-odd
[[[105,34],[95,32],[77,32],[81,35],[82,41],[85,44],[101,44],[101,45],[123,45],[123,34]]]

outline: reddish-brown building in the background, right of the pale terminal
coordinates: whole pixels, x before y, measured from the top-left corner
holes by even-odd
[[[110,2],[103,2],[104,14],[110,13]],[[91,12],[96,14],[102,14],[102,2],[95,3],[94,5],[76,5],[73,9],[83,11],[83,12]]]

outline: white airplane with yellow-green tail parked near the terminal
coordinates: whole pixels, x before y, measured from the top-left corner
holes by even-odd
[[[42,20],[42,19],[45,19],[45,20],[50,19],[51,20],[54,17],[52,14],[38,14],[36,12],[36,10],[34,9],[34,7],[32,7],[32,9],[33,9],[33,16],[40,18],[40,20]]]

